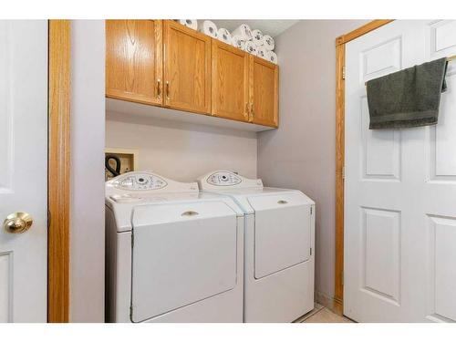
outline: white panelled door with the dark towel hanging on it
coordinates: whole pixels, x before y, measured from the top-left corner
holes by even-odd
[[[456,21],[394,21],[347,43],[344,314],[456,321],[456,61],[439,124],[368,130],[365,82],[456,54]]]

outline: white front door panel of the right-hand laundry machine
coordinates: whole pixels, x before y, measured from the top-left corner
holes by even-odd
[[[252,196],[254,277],[262,278],[310,258],[310,204],[301,193]]]

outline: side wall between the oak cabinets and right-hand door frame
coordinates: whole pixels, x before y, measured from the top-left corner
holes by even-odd
[[[335,39],[368,20],[306,20],[275,38],[280,129],[258,136],[258,176],[316,201],[316,295],[334,295],[336,179]],[[326,303],[325,303],[326,304]]]

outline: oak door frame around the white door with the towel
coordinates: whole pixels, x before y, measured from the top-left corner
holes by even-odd
[[[345,45],[392,21],[372,20],[336,38],[336,265],[333,309],[340,315],[344,312]]]

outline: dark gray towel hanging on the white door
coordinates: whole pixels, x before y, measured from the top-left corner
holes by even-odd
[[[435,125],[447,64],[440,58],[369,80],[369,130]]]

